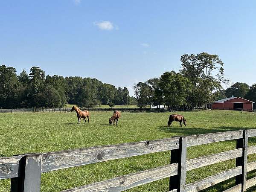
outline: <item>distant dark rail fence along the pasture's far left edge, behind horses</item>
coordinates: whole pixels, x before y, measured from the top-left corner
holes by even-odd
[[[134,113],[145,113],[151,111],[150,108],[80,108],[81,110],[88,110],[91,112],[104,112],[119,110],[121,112],[134,112]],[[19,108],[19,109],[0,109],[0,113],[24,113],[24,112],[69,112],[71,108]],[[152,109],[153,110],[153,109]]]

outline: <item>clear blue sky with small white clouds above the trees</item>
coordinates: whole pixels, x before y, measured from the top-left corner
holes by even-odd
[[[0,64],[132,87],[179,70],[185,53],[209,52],[227,78],[251,85],[255,9],[253,0],[2,0]]]

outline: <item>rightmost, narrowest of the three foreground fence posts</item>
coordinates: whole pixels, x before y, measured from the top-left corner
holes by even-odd
[[[236,148],[242,148],[243,149],[243,155],[242,157],[236,158],[236,166],[242,166],[242,174],[236,176],[236,185],[240,184],[242,185],[242,190],[246,190],[246,173],[247,173],[247,147],[248,147],[248,134],[247,130],[243,131],[243,138],[236,140]]]

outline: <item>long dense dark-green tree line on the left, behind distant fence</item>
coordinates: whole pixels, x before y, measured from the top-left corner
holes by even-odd
[[[0,108],[61,108],[67,103],[113,107],[127,102],[136,102],[127,87],[116,88],[95,78],[45,76],[40,67],[17,75],[14,67],[0,66]]]

